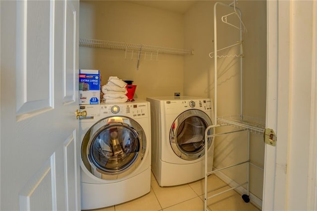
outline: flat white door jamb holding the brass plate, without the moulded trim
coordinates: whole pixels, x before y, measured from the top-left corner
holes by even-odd
[[[289,1],[267,0],[266,127],[276,131],[278,142],[265,144],[264,211],[285,210],[290,75],[282,70],[289,70],[289,9]]]

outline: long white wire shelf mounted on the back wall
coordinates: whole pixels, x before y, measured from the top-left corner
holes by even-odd
[[[165,47],[158,47],[158,46],[121,43],[121,42],[113,42],[113,41],[105,41],[105,40],[92,40],[92,39],[84,39],[84,38],[79,39],[79,46],[89,47],[89,48],[104,48],[104,49],[111,49],[111,50],[141,52],[141,53],[167,53],[167,54],[178,54],[178,55],[193,54],[192,50],[186,50],[186,49],[174,49],[174,48],[165,48]]]

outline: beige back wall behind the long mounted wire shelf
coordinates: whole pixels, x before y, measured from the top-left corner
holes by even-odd
[[[80,1],[79,37],[183,49],[183,15],[126,1]],[[133,58],[133,59],[131,59]],[[183,93],[184,56],[79,48],[79,68],[100,69],[102,84],[109,76],[133,80],[135,97],[173,96]]]

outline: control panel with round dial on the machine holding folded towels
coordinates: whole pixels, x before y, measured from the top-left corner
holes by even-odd
[[[100,115],[120,115],[133,118],[143,118],[149,116],[149,103],[122,103],[122,104],[101,104]]]

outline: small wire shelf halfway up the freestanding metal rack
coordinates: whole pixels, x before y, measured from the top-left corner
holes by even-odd
[[[243,115],[226,115],[219,116],[217,120],[219,124],[230,124],[248,129],[256,134],[264,134],[265,121],[263,119]]]

